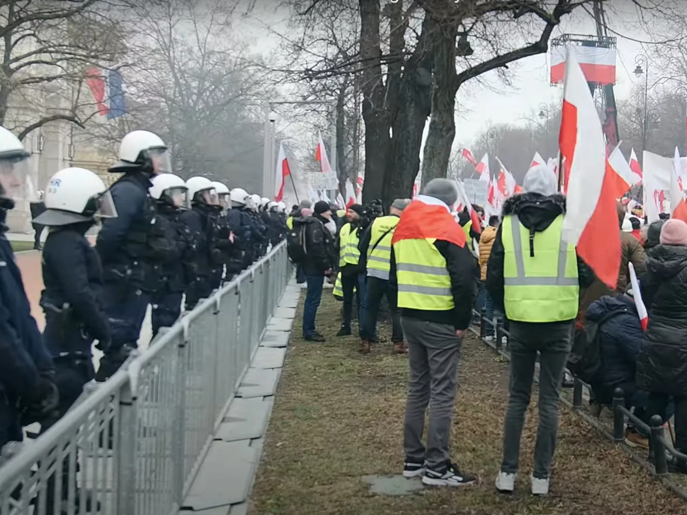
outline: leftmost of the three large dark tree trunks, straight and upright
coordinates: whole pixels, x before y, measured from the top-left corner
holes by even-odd
[[[363,120],[365,121],[365,188],[363,202],[379,196],[384,183],[387,151],[390,144],[389,115],[381,66],[379,0],[359,0],[360,57],[362,73]],[[343,186],[343,185],[342,185]]]

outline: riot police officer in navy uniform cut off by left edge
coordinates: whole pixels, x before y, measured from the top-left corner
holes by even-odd
[[[22,415],[38,420],[57,405],[54,366],[26,297],[19,267],[5,238],[15,201],[34,200],[21,141],[0,127],[0,448],[21,442]],[[25,420],[25,422],[34,422]]]

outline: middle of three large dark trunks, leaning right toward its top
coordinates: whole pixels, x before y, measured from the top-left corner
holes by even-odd
[[[436,23],[425,16],[415,52],[405,63],[392,128],[391,155],[385,170],[382,200],[387,206],[394,198],[412,196],[413,183],[420,170],[423,130],[431,112],[431,34],[435,30]]]

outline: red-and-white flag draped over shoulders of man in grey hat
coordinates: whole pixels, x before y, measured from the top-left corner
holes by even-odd
[[[391,243],[427,238],[455,243],[458,247],[465,247],[466,243],[465,233],[455,223],[450,207],[433,196],[418,195],[403,209]]]

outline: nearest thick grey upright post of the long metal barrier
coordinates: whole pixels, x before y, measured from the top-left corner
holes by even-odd
[[[136,397],[131,389],[131,380],[128,380],[120,392],[119,424],[114,428],[120,439],[115,472],[117,513],[136,512],[136,422]]]

